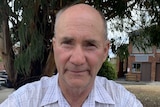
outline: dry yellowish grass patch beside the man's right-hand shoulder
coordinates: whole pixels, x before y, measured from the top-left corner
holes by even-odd
[[[160,107],[160,85],[125,85],[144,107]]]

